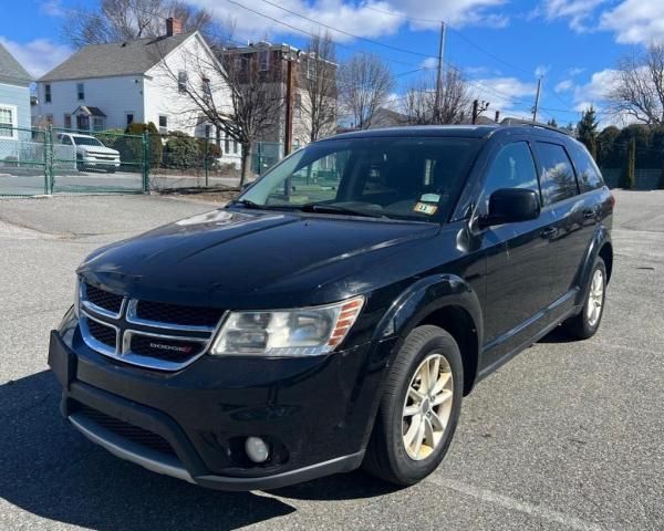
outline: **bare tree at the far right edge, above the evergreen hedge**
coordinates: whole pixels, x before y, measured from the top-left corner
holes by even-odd
[[[615,115],[647,125],[664,124],[664,41],[621,58],[612,81],[606,100]]]

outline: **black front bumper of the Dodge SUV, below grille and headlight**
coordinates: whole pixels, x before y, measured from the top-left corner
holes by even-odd
[[[186,481],[253,490],[360,466],[383,373],[371,360],[384,356],[372,352],[366,344],[310,360],[204,356],[160,373],[97,354],[70,323],[51,333],[49,365],[63,386],[62,414],[94,442]],[[270,444],[266,464],[243,454],[250,435]],[[164,444],[155,448],[155,438]]]

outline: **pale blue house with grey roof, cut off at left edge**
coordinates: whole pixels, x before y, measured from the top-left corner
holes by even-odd
[[[18,138],[13,127],[30,127],[30,83],[25,69],[0,44],[0,139]]]

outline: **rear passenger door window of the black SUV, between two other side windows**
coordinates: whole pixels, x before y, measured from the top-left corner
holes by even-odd
[[[538,142],[536,153],[541,166],[540,185],[544,206],[575,196],[574,169],[564,148],[558,144]]]

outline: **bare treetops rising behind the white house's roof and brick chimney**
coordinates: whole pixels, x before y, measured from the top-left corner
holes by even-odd
[[[208,11],[180,0],[101,0],[97,9],[68,17],[62,33],[74,48],[159,37],[167,17],[179,19],[185,30],[215,30]]]

